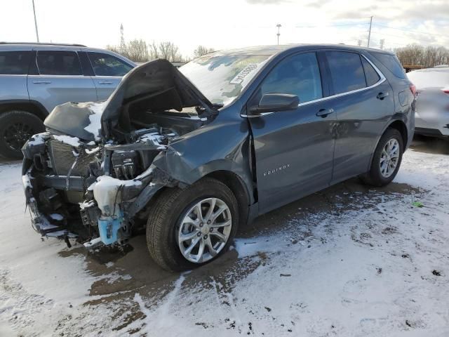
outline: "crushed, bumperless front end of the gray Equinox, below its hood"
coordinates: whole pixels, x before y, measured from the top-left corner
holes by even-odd
[[[23,147],[22,182],[34,230],[69,246],[69,238],[88,248],[126,242],[154,193],[176,185],[152,166],[176,136],[156,127],[126,145],[33,136]]]

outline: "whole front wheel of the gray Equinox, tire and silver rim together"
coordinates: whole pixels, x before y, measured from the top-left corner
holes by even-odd
[[[227,251],[238,224],[236,198],[220,181],[203,178],[185,189],[168,188],[151,206],[149,254],[166,270],[198,267]]]

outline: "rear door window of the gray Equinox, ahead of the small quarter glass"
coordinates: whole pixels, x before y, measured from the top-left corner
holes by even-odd
[[[326,51],[334,93],[347,93],[366,87],[360,56],[347,51]]]

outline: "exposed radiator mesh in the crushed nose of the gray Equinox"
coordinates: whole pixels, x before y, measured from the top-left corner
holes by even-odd
[[[53,138],[50,141],[50,149],[53,169],[58,176],[67,176],[76,159],[76,154],[79,158],[70,176],[88,176],[89,163],[95,160],[94,153],[87,154],[81,147],[72,147]]]

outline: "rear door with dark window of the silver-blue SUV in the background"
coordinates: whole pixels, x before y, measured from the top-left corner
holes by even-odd
[[[73,50],[37,50],[35,67],[28,76],[29,99],[48,112],[67,102],[96,101],[91,77],[83,75],[78,54]]]

